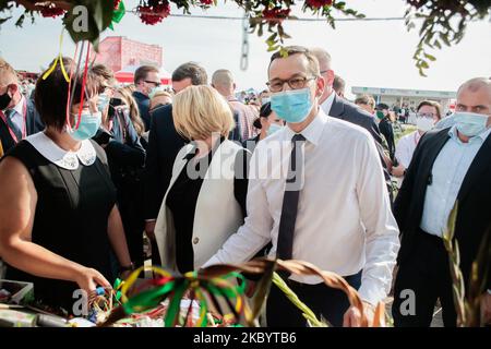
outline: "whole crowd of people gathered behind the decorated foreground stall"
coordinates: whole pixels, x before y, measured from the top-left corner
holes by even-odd
[[[422,101],[417,130],[396,144],[392,123],[406,110],[369,95],[348,101],[322,48],[286,51],[265,62],[258,96],[237,94],[230,71],[208,79],[195,62],[178,67],[166,91],[155,67],[121,86],[104,64],[80,72],[69,58],[26,96],[0,59],[5,277],[33,282],[38,301],[71,313],[74,290],[110,287],[145,263],[146,236],[152,263],[176,273],[256,256],[302,260],[343,276],[369,320],[393,288],[395,326],[429,326],[438,300],[445,326],[455,326],[442,238],[458,202],[459,266],[466,289],[476,287],[471,265],[491,227],[491,80],[464,82],[448,118]],[[359,310],[319,277],[282,277],[331,324],[361,324]],[[490,279],[478,280],[487,323]],[[307,325],[275,286],[266,321]]]

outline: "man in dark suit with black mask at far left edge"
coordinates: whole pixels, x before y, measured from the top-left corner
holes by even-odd
[[[0,58],[0,143],[3,153],[44,128],[33,100],[21,92],[15,70]]]

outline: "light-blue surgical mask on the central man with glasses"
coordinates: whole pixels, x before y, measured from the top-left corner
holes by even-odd
[[[278,92],[271,96],[271,109],[290,123],[302,122],[312,109],[310,88]]]

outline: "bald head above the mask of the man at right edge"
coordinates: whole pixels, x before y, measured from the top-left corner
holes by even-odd
[[[462,84],[456,110],[491,116],[491,79],[475,77]]]

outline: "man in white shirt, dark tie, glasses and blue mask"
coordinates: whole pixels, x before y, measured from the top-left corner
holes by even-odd
[[[287,58],[273,55],[268,70],[272,108],[287,127],[258,144],[248,217],[205,266],[248,261],[272,241],[272,257],[307,261],[344,276],[371,317],[391,288],[399,248],[379,154],[366,130],[320,109],[325,82],[312,53],[287,50]],[[320,278],[290,276],[287,282],[333,325],[360,325],[357,309]],[[306,325],[276,287],[266,315],[268,326]]]

